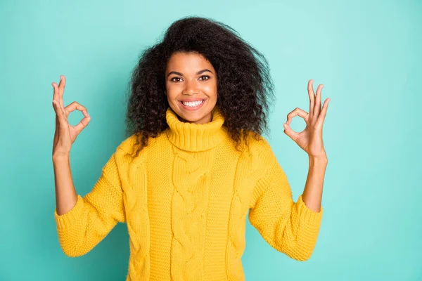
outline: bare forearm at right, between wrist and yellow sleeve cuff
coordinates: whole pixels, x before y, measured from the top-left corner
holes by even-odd
[[[309,171],[303,190],[302,200],[312,211],[321,209],[322,189],[328,159],[326,157],[309,157]]]

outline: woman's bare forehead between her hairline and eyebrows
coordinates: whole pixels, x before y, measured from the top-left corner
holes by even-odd
[[[180,72],[197,72],[208,68],[214,72],[212,64],[200,53],[173,53],[170,57],[166,72],[180,71]]]

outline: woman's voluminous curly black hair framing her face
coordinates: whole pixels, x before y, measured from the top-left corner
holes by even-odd
[[[158,44],[141,53],[130,80],[127,100],[127,134],[136,134],[136,155],[168,128],[165,113],[165,68],[176,52],[200,53],[217,72],[217,104],[223,126],[236,142],[248,145],[252,133],[258,140],[267,126],[269,99],[274,84],[267,59],[242,39],[236,30],[210,18],[181,18],[167,29]]]

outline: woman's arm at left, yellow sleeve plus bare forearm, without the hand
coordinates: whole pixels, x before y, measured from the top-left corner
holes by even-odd
[[[54,217],[60,246],[68,256],[82,256],[103,240],[117,222],[126,220],[115,154],[84,197],[77,195],[74,188],[69,157],[53,157],[53,165],[57,204]]]

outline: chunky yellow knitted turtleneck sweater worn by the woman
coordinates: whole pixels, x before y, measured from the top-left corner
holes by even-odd
[[[238,152],[219,107],[207,124],[184,123],[168,107],[169,128],[138,157],[134,136],[122,141],[101,177],[66,214],[54,211],[60,247],[87,254],[114,226],[127,223],[126,280],[245,280],[246,216],[272,247],[309,259],[323,209],[293,202],[269,143],[250,138]]]

